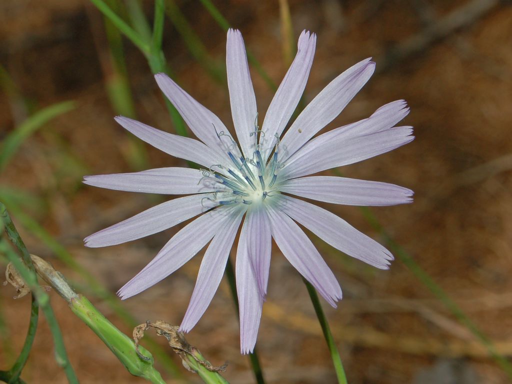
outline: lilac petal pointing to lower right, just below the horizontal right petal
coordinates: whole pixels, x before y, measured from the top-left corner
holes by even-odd
[[[389,268],[390,251],[328,210],[288,196],[281,209],[334,248],[374,267]]]

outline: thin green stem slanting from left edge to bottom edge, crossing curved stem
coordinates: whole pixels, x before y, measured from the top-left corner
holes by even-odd
[[[72,384],[78,384],[78,378],[76,377],[71,363],[69,362],[66,347],[62,339],[62,333],[60,332],[55,313],[53,312],[52,306],[50,305],[50,297],[37,284],[36,274],[28,269],[28,267],[21,260],[19,260],[16,253],[12,250],[9,243],[7,243],[4,238],[0,240],[0,249],[7,256],[14,268],[16,268],[19,275],[22,276],[22,279],[35,295],[37,303],[41,307],[42,312],[45,314],[46,321],[53,336],[53,344],[55,346],[55,360],[57,361],[57,364],[64,369],[66,377],[68,378],[68,382]]]

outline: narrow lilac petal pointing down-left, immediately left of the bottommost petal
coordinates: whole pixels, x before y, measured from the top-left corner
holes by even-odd
[[[211,299],[219,287],[226,268],[229,251],[244,214],[244,211],[240,207],[238,208],[238,210],[230,212],[229,218],[219,227],[214,239],[206,249],[199,268],[196,287],[181,322],[180,330],[183,332],[189,332],[194,328],[210,305]]]

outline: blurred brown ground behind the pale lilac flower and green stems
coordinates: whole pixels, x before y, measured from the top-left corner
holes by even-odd
[[[278,2],[216,1],[275,82],[287,67],[282,54]],[[225,32],[199,2],[179,1],[184,17],[222,68]],[[369,116],[379,106],[406,99],[416,140],[399,150],[343,169],[349,177],[412,188],[408,206],[372,209],[504,355],[512,354],[512,7],[498,1],[290,1],[295,38],[317,33],[316,57],[305,92],[311,100],[331,79],[372,56],[377,73],[329,128]],[[153,4],[143,2],[151,19]],[[460,28],[456,28],[459,26]],[[3,187],[24,191],[23,210],[37,220],[115,292],[156,254],[179,228],[133,243],[87,249],[82,238],[150,207],[161,197],[101,190],[80,184],[84,174],[130,172],[131,141],[113,117],[105,92],[105,32],[87,1],[0,2],[0,63],[18,92],[0,93],[0,139],[43,106],[75,100],[76,108],[26,140],[1,174]],[[137,118],[174,132],[163,98],[144,57],[124,44]],[[193,58],[169,19],[164,51],[183,88],[230,120],[227,87]],[[252,72],[260,115],[272,92]],[[260,121],[262,119],[260,118]],[[147,147],[150,167],[183,165]],[[20,195],[21,196],[21,195]],[[23,200],[23,199],[22,199]],[[379,241],[353,207],[326,206]],[[9,206],[8,206],[9,209]],[[15,222],[16,215],[11,211]],[[32,253],[51,261],[111,321],[127,327],[101,299],[90,295],[74,270],[28,230],[20,232]],[[349,381],[359,383],[505,383],[506,375],[475,337],[456,322],[400,261],[380,271],[350,260],[318,239],[335,271],[344,300],[328,312]],[[179,324],[194,288],[201,256],[123,305],[140,323]],[[3,272],[4,266],[2,267]],[[2,350],[7,369],[23,344],[30,299],[12,300],[0,289]],[[81,382],[143,382],[130,376],[110,351],[51,293],[71,362]],[[22,377],[32,383],[66,382],[53,358],[46,321]],[[239,352],[239,329],[223,282],[198,326],[187,336],[214,364],[229,361],[225,377],[252,382]],[[164,340],[160,340],[164,345]],[[8,346],[9,348],[7,348]],[[332,363],[301,279],[275,249],[269,297],[257,344],[268,383],[335,382]],[[180,365],[172,351],[169,355]],[[162,370],[163,372],[163,370]],[[198,378],[183,370],[190,382]],[[165,375],[167,382],[173,378]],[[444,381],[443,381],[444,380]],[[448,381],[451,380],[451,381]]]

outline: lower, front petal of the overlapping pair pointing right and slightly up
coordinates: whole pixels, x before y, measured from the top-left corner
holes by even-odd
[[[397,126],[366,135],[338,135],[322,143],[312,140],[285,164],[282,177],[287,179],[311,175],[325,169],[357,163],[392,151],[414,140],[411,126]],[[320,138],[320,136],[318,137]]]

